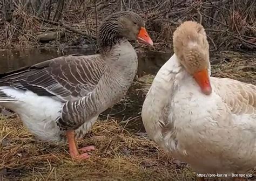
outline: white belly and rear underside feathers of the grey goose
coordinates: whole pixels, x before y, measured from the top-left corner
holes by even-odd
[[[15,102],[2,102],[1,105],[16,112],[32,135],[45,142],[55,144],[66,142],[64,131],[60,131],[56,123],[64,102],[49,96],[38,96],[31,91],[20,91],[10,87],[0,87],[0,89],[6,95],[17,99]],[[97,117],[80,126],[76,130],[76,137],[82,137],[95,123]]]

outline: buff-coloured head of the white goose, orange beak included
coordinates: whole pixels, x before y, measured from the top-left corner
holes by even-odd
[[[180,64],[193,76],[201,91],[210,95],[209,45],[204,27],[192,21],[181,24],[173,33],[173,49]]]

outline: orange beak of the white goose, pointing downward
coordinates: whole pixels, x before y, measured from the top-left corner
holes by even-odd
[[[207,69],[203,69],[202,71],[196,72],[193,74],[194,79],[197,81],[198,85],[201,88],[201,91],[210,95],[212,93],[212,87],[208,76]]]

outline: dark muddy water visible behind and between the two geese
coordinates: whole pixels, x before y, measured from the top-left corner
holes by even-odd
[[[66,54],[94,54],[93,50],[85,49],[36,49],[36,50],[3,50],[0,51],[0,73],[30,66]],[[156,74],[159,68],[171,57],[171,53],[144,52],[138,53],[138,76]],[[129,130],[136,133],[144,132],[140,111],[143,98],[138,96],[134,87],[130,88],[125,101],[119,102],[100,115],[100,119],[118,119]],[[129,120],[129,121],[127,121]]]

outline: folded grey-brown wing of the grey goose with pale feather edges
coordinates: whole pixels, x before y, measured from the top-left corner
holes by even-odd
[[[0,86],[55,96],[65,102],[91,93],[104,72],[100,55],[66,55],[0,74]]]

